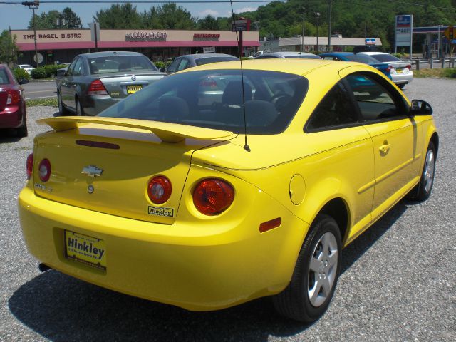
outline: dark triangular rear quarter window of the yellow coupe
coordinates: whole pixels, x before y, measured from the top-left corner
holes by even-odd
[[[307,130],[337,128],[358,122],[358,115],[351,104],[350,95],[342,81],[333,86],[318,103],[307,122]]]

